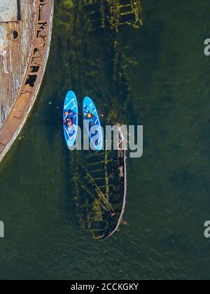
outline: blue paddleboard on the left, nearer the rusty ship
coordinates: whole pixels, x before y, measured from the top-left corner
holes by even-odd
[[[69,91],[66,94],[64,101],[63,123],[66,144],[68,148],[71,148],[75,144],[78,132],[78,102],[76,94],[74,94],[73,91]]]

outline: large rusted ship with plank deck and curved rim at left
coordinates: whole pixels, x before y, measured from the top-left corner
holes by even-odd
[[[43,80],[54,0],[0,2],[0,161],[18,137]]]

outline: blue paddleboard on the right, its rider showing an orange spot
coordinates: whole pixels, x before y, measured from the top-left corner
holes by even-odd
[[[90,115],[91,118],[88,118],[88,116]],[[90,99],[90,97],[85,97],[83,101],[83,116],[85,120],[85,125],[87,127],[87,132],[90,137],[92,149],[95,151],[101,151],[104,140],[101,123],[99,120],[97,108],[92,102],[92,99]]]

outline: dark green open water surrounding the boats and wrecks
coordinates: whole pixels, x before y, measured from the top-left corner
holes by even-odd
[[[142,1],[144,27],[112,36],[116,69],[129,64],[117,78],[112,33],[88,33],[78,5],[55,2],[41,92],[0,167],[0,279],[210,279],[209,0]],[[144,125],[144,156],[128,160],[128,225],[102,242],[74,211],[59,123],[70,88],[91,94],[109,123]]]

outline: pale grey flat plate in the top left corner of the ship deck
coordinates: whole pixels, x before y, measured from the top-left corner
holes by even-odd
[[[0,1],[0,22],[15,22],[18,20],[18,1]]]

